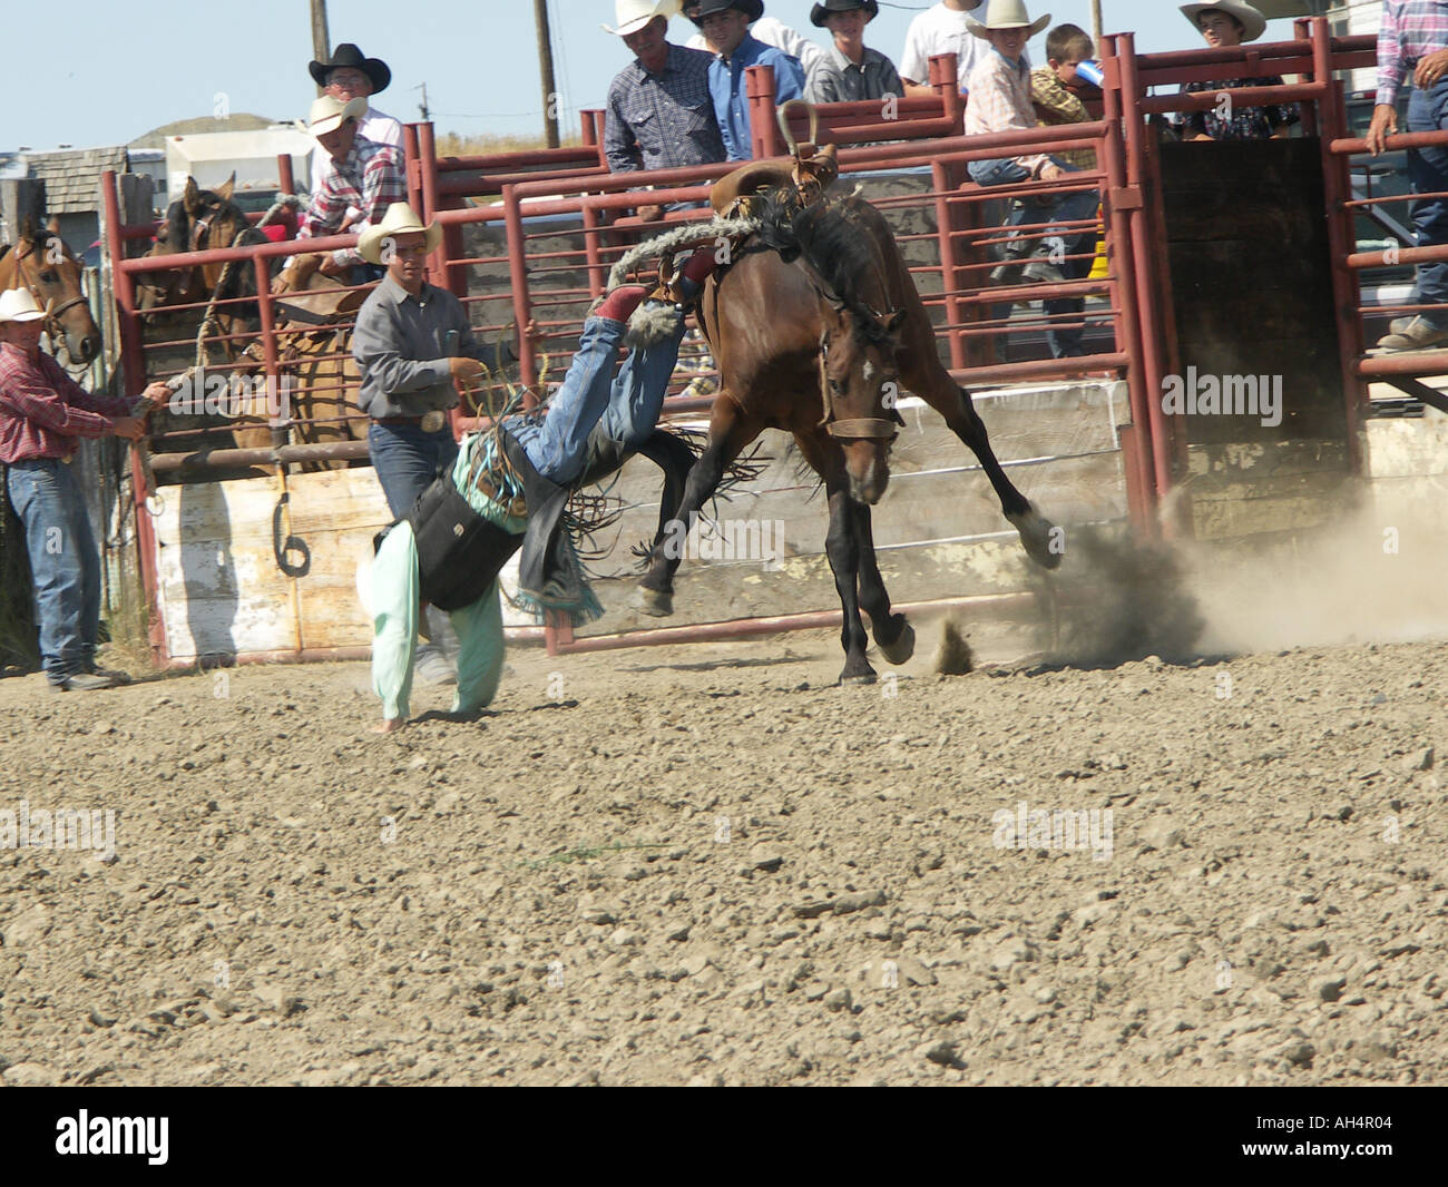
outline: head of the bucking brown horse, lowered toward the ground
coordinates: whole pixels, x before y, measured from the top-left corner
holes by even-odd
[[[888,314],[822,295],[820,384],[825,430],[844,450],[850,498],[873,507],[891,481],[901,415],[895,352],[904,310]]]

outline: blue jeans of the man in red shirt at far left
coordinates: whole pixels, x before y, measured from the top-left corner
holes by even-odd
[[[96,667],[100,552],[85,501],[65,462],[13,462],[6,472],[6,489],[25,525],[41,663],[46,679],[58,685]]]

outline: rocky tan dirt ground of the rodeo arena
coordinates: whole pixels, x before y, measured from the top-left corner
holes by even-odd
[[[838,666],[3,680],[0,811],[116,814],[0,848],[3,1081],[1444,1081],[1448,644]]]

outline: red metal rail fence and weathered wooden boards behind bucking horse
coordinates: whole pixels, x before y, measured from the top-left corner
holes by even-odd
[[[1093,122],[977,138],[963,135],[953,56],[931,62],[934,98],[899,100],[888,111],[879,103],[792,109],[783,119],[772,74],[754,68],[754,156],[782,156],[795,140],[840,148],[837,187],[860,187],[891,221],[943,360],[973,392],[1012,481],[1067,538],[1090,525],[1142,538],[1271,544],[1360,501],[1360,478],[1389,481],[1394,497],[1425,483],[1441,488],[1444,463],[1434,459],[1448,456],[1442,417],[1370,414],[1370,385],[1381,382],[1407,397],[1384,401],[1390,410],[1441,410],[1442,397],[1419,378],[1448,372],[1445,352],[1364,356],[1364,318],[1383,310],[1368,305],[1360,278],[1381,263],[1381,252],[1357,250],[1355,224],[1393,198],[1355,181],[1354,158],[1365,146],[1350,136],[1341,80],[1373,64],[1373,39],[1332,38],[1316,19],[1299,22],[1293,41],[1271,45],[1138,55],[1131,35],[1118,35],[1100,49],[1105,84]],[[1213,103],[1211,93],[1179,94],[1179,85],[1219,78],[1224,68],[1297,78],[1237,98],[1299,103],[1306,135],[1164,143],[1164,113]],[[410,201],[445,227],[429,276],[462,297],[484,339],[500,345],[494,382],[453,414],[459,433],[501,408],[507,381],[546,392],[560,379],[613,265],[643,239],[707,220],[710,184],[734,168],[614,177],[601,155],[602,117],[584,113],[578,148],[478,158],[440,159],[432,124],[404,129]],[[1448,133],[1394,138],[1400,146],[1429,140],[1448,142]],[[972,161],[1066,148],[1093,149],[1096,169],[990,190],[969,178]],[[290,161],[282,171],[282,190],[291,190]],[[245,444],[224,415],[235,404],[223,415],[214,408],[159,415],[146,447],[130,457],[127,499],[155,659],[190,666],[366,657],[371,622],[358,566],[390,515],[368,468],[366,421],[350,404],[349,314],[288,320],[268,287],[282,256],[355,239],[142,255],[155,224],[149,207],[140,217],[127,211],[127,184],[103,178],[126,389],[206,362],[209,379],[245,368],[291,397],[243,417]],[[663,223],[636,217],[641,187],[649,203],[673,207]],[[1082,188],[1100,200],[1090,275],[1015,294],[992,287],[1006,203]],[[1402,258],[1410,263],[1444,250],[1405,249]],[[223,334],[216,318],[227,303],[209,294],[162,314],[142,310],[145,285],[217,265],[255,276],[248,300],[259,331]],[[1014,295],[1032,304],[1012,308]],[[1045,349],[1044,295],[1086,298],[1083,316],[1056,318],[1085,324],[1085,358],[1054,359]],[[542,331],[536,343],[518,333],[530,321]],[[237,359],[242,350],[251,358]],[[699,394],[708,391],[699,381],[710,366],[702,340],[688,339],[665,405],[668,424],[707,427],[711,397]],[[1167,415],[1160,394],[1171,376],[1193,373],[1280,375],[1279,423]],[[222,391],[222,378],[207,389]],[[891,492],[875,512],[896,608],[969,607],[972,618],[996,624],[1002,646],[1030,650],[1043,579],[1028,570],[973,456],[909,394],[899,413]],[[659,497],[656,470],[633,462],[594,492],[621,512],[589,559],[605,617],[575,637],[563,622],[537,625],[505,611],[510,640],[566,653],[838,624],[824,499],[814,495],[812,475],[804,476],[789,440],[775,431],[760,439],[752,463],[757,476],[715,502],[714,534],[704,528],[691,543],[678,614],[666,627],[630,609],[640,572],[633,549],[652,538]]]

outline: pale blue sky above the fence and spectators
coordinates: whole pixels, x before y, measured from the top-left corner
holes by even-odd
[[[899,58],[905,29],[925,0],[886,7],[866,42]],[[330,0],[332,41],[358,42],[392,68],[392,84],[378,101],[403,120],[418,119],[418,84],[440,132],[517,135],[542,129],[533,6],[527,0]],[[809,25],[809,0],[767,0],[766,12],[805,36],[824,41]],[[1041,6],[1031,4],[1032,14]],[[1054,23],[1090,28],[1087,0],[1048,7]],[[1174,3],[1103,0],[1108,32],[1132,30],[1142,51],[1199,45]],[[36,10],[32,10],[36,12]],[[579,107],[602,106],[610,78],[628,61],[623,43],[602,32],[614,23],[613,0],[550,0],[557,83],[566,129]],[[52,52],[6,54],[0,104],[0,149],[77,148],[125,143],[172,120],[209,116],[224,94],[233,111],[272,119],[306,113],[314,97],[307,77],[311,29],[306,0],[245,0],[195,4],[161,0],[142,7],[114,0],[68,0],[65,26],[33,25]],[[13,22],[12,22],[13,23]],[[670,25],[682,42],[694,26]],[[1268,26],[1267,38],[1290,33],[1292,23]],[[13,30],[12,30],[13,32]],[[54,36],[46,38],[45,33]],[[1040,59],[1043,38],[1032,42]]]

